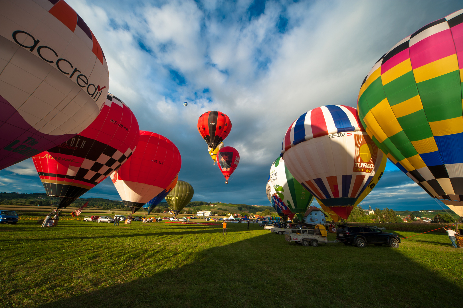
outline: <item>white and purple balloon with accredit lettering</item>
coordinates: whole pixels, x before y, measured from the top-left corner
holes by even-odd
[[[63,0],[0,0],[0,169],[60,145],[100,113],[109,87],[93,32]]]

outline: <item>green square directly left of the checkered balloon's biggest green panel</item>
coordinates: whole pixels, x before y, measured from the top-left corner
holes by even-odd
[[[401,75],[399,78],[384,85],[383,88],[391,106],[407,101],[413,96],[418,95],[418,88],[416,88],[413,71]]]

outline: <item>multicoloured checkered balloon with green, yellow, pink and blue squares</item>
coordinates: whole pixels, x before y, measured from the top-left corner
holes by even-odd
[[[370,70],[357,101],[375,144],[452,210],[463,205],[462,36],[460,10],[402,39]]]

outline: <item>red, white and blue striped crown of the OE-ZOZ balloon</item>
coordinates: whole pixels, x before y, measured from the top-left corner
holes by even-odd
[[[302,114],[289,126],[282,142],[282,154],[305,140],[339,132],[365,131],[357,109],[343,105],[318,107]]]

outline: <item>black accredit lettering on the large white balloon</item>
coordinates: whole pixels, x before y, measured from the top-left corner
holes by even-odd
[[[24,44],[23,43],[20,43],[20,41],[18,40],[18,35],[20,35],[19,37],[21,38],[21,34],[22,35],[26,35],[25,39],[22,39],[24,41]],[[56,59],[56,62],[54,62],[55,59],[53,59],[53,55],[55,57],[58,57],[58,54],[56,53],[55,50],[53,50],[51,47],[49,46],[46,46],[46,45],[40,45],[38,46],[38,43],[40,42],[40,40],[34,38],[30,33],[26,32],[26,31],[22,31],[22,30],[17,30],[17,31],[13,31],[13,40],[16,42],[16,44],[18,44],[19,46],[31,51],[31,52],[37,52],[37,55],[42,59],[44,60],[45,62],[47,63],[56,63],[56,68],[62,72],[64,75],[69,75],[69,78],[73,78],[75,73],[81,73],[81,71],[77,68],[74,67],[74,65],[72,65],[72,63],[69,62],[69,60],[66,60],[64,58],[59,58],[59,59]],[[29,40],[31,39],[31,43],[25,43],[26,40]],[[38,46],[38,47],[37,47]],[[46,52],[45,50],[49,50],[48,52]],[[51,53],[50,53],[51,51]],[[67,62],[70,66],[71,69],[74,69],[72,71],[72,73],[69,73],[67,71],[67,69],[65,68],[66,65],[64,65],[64,68],[62,67],[63,66],[63,63],[62,62]],[[101,94],[102,94],[102,91],[104,88],[106,88],[106,86],[103,86],[101,87],[100,85],[97,85],[95,86],[93,83],[89,83],[88,81],[88,77],[84,74],[78,74],[75,78],[75,83],[77,83],[81,88],[87,88],[87,94],[90,95],[90,97],[92,97],[94,99],[94,101],[98,101],[98,99],[100,98]],[[127,130],[128,131],[128,130]]]

